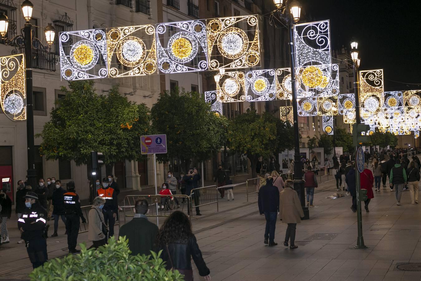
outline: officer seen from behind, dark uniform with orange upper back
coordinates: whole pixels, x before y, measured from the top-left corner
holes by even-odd
[[[75,182],[67,183],[67,193],[64,193],[64,211],[66,212],[66,232],[67,232],[67,247],[70,254],[77,254],[80,251],[76,250],[77,235],[79,234],[80,220],[82,223],[86,222],[83,217],[82,209],[80,209],[79,195],[75,193]]]

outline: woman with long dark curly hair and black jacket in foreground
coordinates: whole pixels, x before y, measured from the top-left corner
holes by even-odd
[[[155,245],[162,250],[161,258],[168,270],[179,270],[184,280],[193,280],[192,261],[195,261],[199,275],[210,281],[210,270],[200,252],[197,240],[192,232],[192,224],[186,214],[173,212],[164,222],[155,239]]]

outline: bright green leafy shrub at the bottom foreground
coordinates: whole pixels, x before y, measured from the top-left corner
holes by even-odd
[[[36,268],[29,277],[37,281],[181,281],[178,270],[166,270],[165,262],[158,254],[132,256],[128,241],[111,238],[98,249],[86,249],[80,244],[81,253],[53,259]]]

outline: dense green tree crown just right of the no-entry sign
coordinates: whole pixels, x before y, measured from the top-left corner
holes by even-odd
[[[208,160],[224,143],[226,118],[212,112],[196,92],[176,88],[161,93],[151,116],[155,131],[167,135],[168,153],[157,155],[160,161]]]

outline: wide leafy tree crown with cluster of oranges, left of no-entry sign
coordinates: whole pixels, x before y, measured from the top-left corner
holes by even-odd
[[[47,160],[90,160],[91,151],[104,153],[105,163],[141,158],[140,136],[150,131],[149,109],[121,96],[113,86],[106,96],[95,93],[92,81],[69,82],[44,124],[40,154]]]

